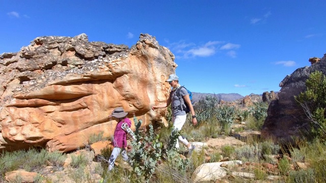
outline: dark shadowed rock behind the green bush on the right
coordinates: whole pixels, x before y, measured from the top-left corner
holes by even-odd
[[[300,136],[301,130],[309,128],[309,119],[303,108],[297,105],[294,96],[298,96],[306,89],[306,80],[310,74],[321,71],[326,75],[326,56],[319,62],[304,68],[295,70],[286,76],[280,83],[281,90],[277,100],[271,101],[264,121],[261,135],[271,137],[279,141],[291,142],[291,137]]]

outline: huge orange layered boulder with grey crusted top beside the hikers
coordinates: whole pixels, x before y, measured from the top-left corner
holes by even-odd
[[[85,34],[38,37],[0,57],[0,151],[83,147],[92,134],[113,135],[117,121],[108,116],[119,106],[143,125],[166,124],[166,109],[151,106],[167,100],[165,80],[177,65],[155,37],[141,34],[130,49]]]

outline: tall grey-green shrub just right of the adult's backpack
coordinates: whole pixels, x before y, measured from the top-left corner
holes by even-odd
[[[205,122],[207,123],[209,120],[216,117],[220,101],[221,100],[216,96],[212,97],[208,95],[200,99],[196,105],[194,105],[198,125]]]

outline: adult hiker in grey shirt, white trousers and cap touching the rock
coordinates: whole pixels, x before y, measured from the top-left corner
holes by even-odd
[[[187,90],[184,87],[180,88],[180,95],[182,96],[182,100],[179,100],[179,97],[177,96],[177,89],[180,87],[179,84],[179,77],[175,74],[171,74],[169,78],[166,80],[166,82],[169,82],[170,86],[172,87],[170,96],[167,100],[167,103],[161,104],[161,105],[154,105],[152,107],[153,110],[158,108],[165,108],[168,107],[171,104],[172,109],[172,122],[173,122],[173,128],[174,130],[180,131],[182,129],[182,126],[185,123],[186,120],[186,112],[183,110],[185,107],[181,106],[182,103],[186,102],[189,106],[190,112],[192,114],[192,123],[193,125],[197,125],[197,119],[194,111],[193,104],[189,98],[189,94]],[[179,136],[178,139],[188,148],[188,155],[192,154],[193,149],[195,149],[195,145],[192,145],[185,139],[183,136]],[[179,149],[179,142],[177,141],[175,147]]]

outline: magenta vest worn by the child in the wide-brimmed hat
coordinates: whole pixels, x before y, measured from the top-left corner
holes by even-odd
[[[114,147],[119,147],[119,148],[125,148],[127,146],[127,132],[125,132],[122,128],[121,125],[123,123],[126,123],[128,127],[131,127],[131,121],[129,118],[124,118],[121,121],[118,122],[116,126],[116,130],[114,131],[113,135],[113,146]]]

